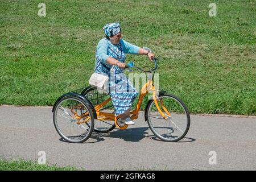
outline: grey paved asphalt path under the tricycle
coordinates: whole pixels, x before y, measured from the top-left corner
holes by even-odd
[[[0,158],[38,161],[88,170],[255,170],[256,119],[191,115],[180,142],[155,138],[143,112],[134,126],[93,133],[85,143],[63,142],[52,121],[52,107],[0,106]],[[216,164],[209,158],[216,152]],[[211,160],[213,161],[213,160]]]

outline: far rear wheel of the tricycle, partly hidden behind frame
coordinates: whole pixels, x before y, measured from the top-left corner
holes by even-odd
[[[102,101],[110,97],[109,94],[98,93],[97,88],[92,86],[85,88],[85,90],[82,91],[81,95],[87,98],[87,100],[89,100],[93,106],[101,103]],[[104,106],[100,110],[104,111],[106,109],[114,109],[112,101],[110,101],[106,106]],[[115,123],[113,121],[100,121],[98,119],[94,120],[94,131],[98,133],[108,133],[114,129]]]

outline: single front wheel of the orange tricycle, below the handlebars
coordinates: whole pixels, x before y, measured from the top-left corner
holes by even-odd
[[[160,95],[157,103],[166,118],[163,118],[154,100],[151,100],[145,118],[152,133],[166,142],[177,142],[185,137],[190,126],[189,111],[185,104],[171,94]]]

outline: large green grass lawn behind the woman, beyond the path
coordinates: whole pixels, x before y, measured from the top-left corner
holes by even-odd
[[[119,22],[123,39],[158,57],[160,90],[191,113],[255,115],[256,1],[47,0],[39,17],[40,2],[0,1],[0,104],[51,106],[87,86],[102,27]]]

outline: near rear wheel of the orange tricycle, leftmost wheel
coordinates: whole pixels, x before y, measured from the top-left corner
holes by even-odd
[[[77,120],[75,119],[75,116],[71,110],[78,115],[82,115],[82,113],[86,113],[88,111],[89,122],[84,122],[86,123],[86,126],[83,125],[84,123],[77,124]],[[57,118],[57,115],[60,115],[61,117],[58,116]],[[62,122],[61,120],[63,120],[64,122]],[[53,109],[53,123],[57,133],[65,141],[71,143],[82,143],[85,142],[85,140],[87,140],[90,135],[92,135],[94,127],[94,117],[90,106],[86,104],[86,102],[83,101],[81,98],[75,96],[65,96],[61,98],[59,102],[57,102],[55,108]],[[67,127],[63,127],[63,129],[60,129],[60,125],[64,124],[69,125],[69,130],[67,130],[67,132],[65,133],[63,129],[66,129]],[[77,130],[80,129],[81,132],[79,131],[79,134],[76,134],[76,132],[71,131],[71,127],[76,128]],[[72,134],[68,134],[68,131]]]

